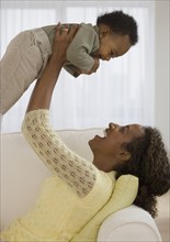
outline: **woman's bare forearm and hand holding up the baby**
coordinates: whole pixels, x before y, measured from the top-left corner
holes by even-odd
[[[59,73],[66,59],[66,51],[72,41],[78,25],[71,26],[69,31],[60,33],[60,24],[57,25],[56,36],[54,40],[53,54],[42,74],[36,81],[27,112],[37,109],[49,109],[52,95],[57,82]]]

